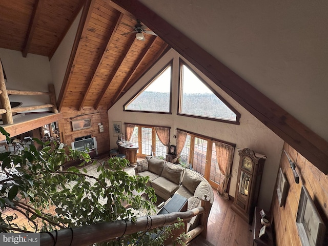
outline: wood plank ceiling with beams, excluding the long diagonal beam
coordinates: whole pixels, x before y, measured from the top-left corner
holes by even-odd
[[[0,9],[0,47],[49,60],[81,11],[59,110],[109,109],[168,48],[155,35],[122,35],[136,18],[108,0],[1,1]]]

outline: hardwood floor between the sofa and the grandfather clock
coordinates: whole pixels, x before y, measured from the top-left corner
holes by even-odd
[[[216,190],[208,220],[207,241],[214,246],[252,245],[251,226],[230,207],[232,201],[220,198]]]

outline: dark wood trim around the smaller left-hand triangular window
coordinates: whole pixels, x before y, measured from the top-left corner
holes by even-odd
[[[169,112],[159,112],[159,111],[147,111],[147,110],[131,110],[131,109],[126,109],[126,107],[132,103],[132,101],[134,99],[136,99],[142,92],[144,92],[147,87],[153,83],[153,81],[161,75],[161,73],[163,73],[168,67],[171,67],[171,79],[170,79],[170,103],[169,103]],[[155,76],[153,76],[143,87],[141,87],[141,89],[135,93],[128,101],[127,103],[125,103],[123,105],[123,111],[126,112],[139,112],[139,113],[152,113],[152,114],[172,114],[172,77],[173,77],[173,59],[166,64],[162,69],[159,70],[159,72],[157,72],[155,74]]]

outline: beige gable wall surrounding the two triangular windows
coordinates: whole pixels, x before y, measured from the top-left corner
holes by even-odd
[[[137,83],[134,85],[117,103],[108,111],[109,124],[111,121],[121,121],[122,129],[124,131],[124,122],[131,122],[134,124],[156,125],[171,127],[171,144],[175,145],[173,135],[176,135],[176,129],[184,129],[190,132],[198,133],[221,139],[224,141],[236,144],[236,151],[233,161],[233,169],[238,169],[239,155],[238,150],[243,148],[250,148],[255,152],[267,155],[265,161],[265,168],[262,178],[262,186],[259,197],[259,206],[270,209],[270,203],[273,195],[273,189],[283,140],[279,138],[270,129],[265,127],[259,120],[257,120],[248,111],[236,103],[230,96],[224,93],[207,77],[203,76],[191,66],[198,74],[224,99],[228,101],[240,114],[240,125],[227,124],[223,122],[204,120],[198,118],[191,118],[177,115],[178,107],[178,66],[179,54],[171,49],[164,55],[157,64],[155,64]],[[162,69],[170,60],[173,60],[173,87],[172,87],[172,114],[153,114],[153,113],[140,113],[140,112],[127,112],[123,111],[123,105],[142,88],[160,69]],[[181,57],[182,58],[182,57]],[[183,58],[182,58],[183,59]],[[186,60],[185,60],[186,61]],[[187,63],[188,64],[188,63]],[[116,147],[117,137],[113,136],[110,128],[110,147]],[[235,195],[235,188],[237,182],[237,175],[233,175],[231,179],[230,195]]]

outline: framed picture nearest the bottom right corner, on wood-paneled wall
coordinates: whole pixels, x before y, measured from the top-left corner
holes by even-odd
[[[304,186],[302,186],[298,203],[296,226],[302,245],[322,245],[326,228],[309,192]]]

